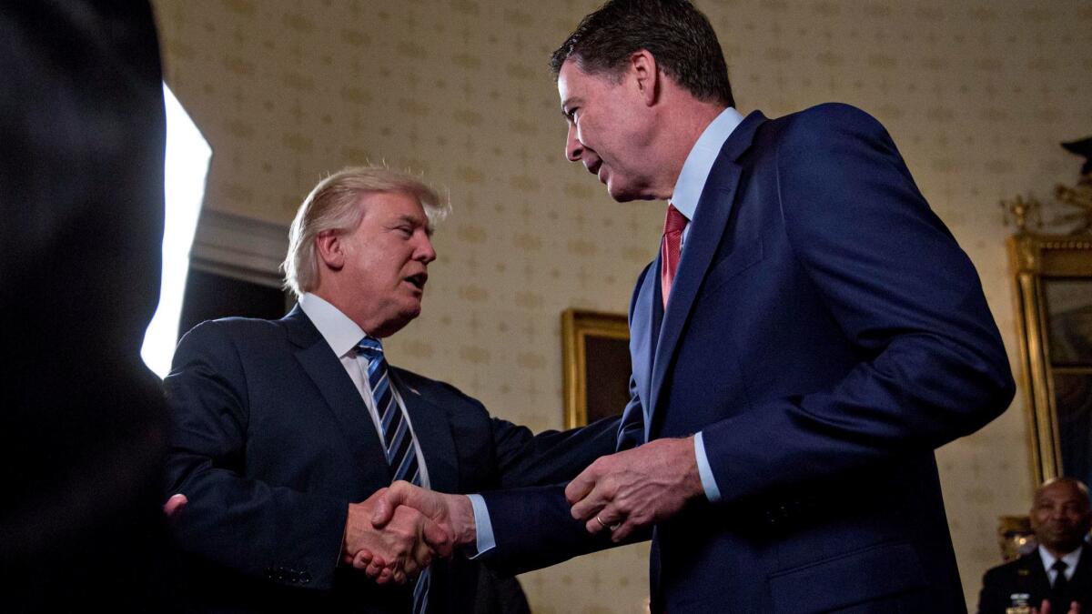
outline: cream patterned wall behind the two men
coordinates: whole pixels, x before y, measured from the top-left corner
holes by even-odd
[[[212,143],[206,206],[286,224],[323,173],[424,172],[454,215],[425,315],[390,344],[496,414],[561,425],[559,314],[624,311],[662,204],[616,204],[562,157],[547,57],[597,1],[156,0],[169,84]],[[700,1],[740,109],[876,115],[978,268],[1016,356],[997,202],[1046,196],[1090,130],[1083,0]],[[938,452],[969,602],[1030,493],[1022,401]],[[536,612],[636,612],[646,546],[522,577]]]

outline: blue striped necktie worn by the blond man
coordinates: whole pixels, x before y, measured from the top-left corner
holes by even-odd
[[[379,414],[383,453],[387,456],[387,463],[394,472],[394,480],[405,480],[415,486],[420,486],[420,467],[417,464],[413,433],[410,430],[410,423],[402,415],[402,408],[394,399],[387,358],[383,357],[383,345],[378,339],[365,335],[356,345],[356,351],[368,358],[368,386],[371,388],[371,398],[376,401],[376,412]],[[414,586],[414,614],[422,614],[428,607],[429,571],[430,569],[423,570]]]

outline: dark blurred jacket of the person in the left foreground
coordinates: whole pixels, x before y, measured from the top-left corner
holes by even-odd
[[[0,9],[4,612],[163,612],[165,116],[147,2]]]

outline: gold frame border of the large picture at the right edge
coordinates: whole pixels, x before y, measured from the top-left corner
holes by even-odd
[[[1041,484],[1063,474],[1043,280],[1092,278],[1092,237],[1020,233],[1009,237],[1008,247],[1016,275],[1016,320],[1032,480]]]

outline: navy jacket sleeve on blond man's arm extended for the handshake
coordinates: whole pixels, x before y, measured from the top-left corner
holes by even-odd
[[[249,400],[238,344],[223,322],[193,329],[165,380],[174,421],[167,494],[179,546],[214,564],[286,586],[330,588],[348,500],[246,477]]]

